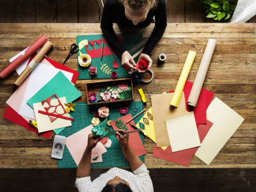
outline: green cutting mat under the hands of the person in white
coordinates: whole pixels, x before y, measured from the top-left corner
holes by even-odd
[[[94,117],[95,112],[101,107],[97,106],[88,106],[87,103],[77,102],[75,111],[71,113],[72,117],[75,119],[72,122],[71,127],[66,127],[63,131],[60,132],[61,136],[68,137],[74,134],[77,131],[80,131],[84,127],[92,124],[91,120]],[[120,104],[109,104],[105,105],[109,108],[109,117],[108,120],[115,120],[120,118],[122,115],[119,113],[118,109],[121,106],[128,107],[128,113],[131,113],[132,116],[140,113],[143,110],[143,102],[123,102]],[[134,110],[137,109],[136,113]],[[134,118],[134,123],[137,124],[138,121],[143,117],[143,113],[138,117]],[[102,121],[102,120],[101,120]],[[107,125],[108,126],[108,125]],[[144,143],[144,136],[140,133],[142,142]],[[115,136],[110,136],[109,139],[112,141],[112,145],[109,148],[106,148],[108,152],[102,154],[103,161],[100,163],[92,163],[93,168],[110,168],[110,167],[129,167],[129,163],[126,161],[124,153],[118,143],[118,140]],[[141,161],[145,161],[144,156],[140,156]],[[58,160],[58,168],[77,168],[74,159],[72,158],[67,147],[64,148],[63,158]]]

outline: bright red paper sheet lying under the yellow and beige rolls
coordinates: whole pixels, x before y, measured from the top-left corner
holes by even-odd
[[[184,95],[185,95],[185,101],[186,101],[186,108],[187,111],[191,111],[188,108],[188,97],[189,93],[191,92],[191,88],[193,86],[193,83],[190,81],[186,81],[186,84],[184,86]],[[170,91],[170,93],[173,93],[174,91]],[[206,124],[206,110],[211,103],[212,97],[214,96],[214,93],[210,92],[209,90],[205,90],[205,88],[202,88],[200,96],[198,98],[198,102],[196,104],[196,107],[193,109],[196,124]]]

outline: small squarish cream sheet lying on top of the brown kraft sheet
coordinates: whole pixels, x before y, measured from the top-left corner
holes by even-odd
[[[200,146],[193,112],[165,119],[172,152]]]

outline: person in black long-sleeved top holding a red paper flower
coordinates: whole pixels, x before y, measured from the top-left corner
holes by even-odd
[[[122,55],[122,65],[136,69],[136,63],[131,54],[120,44],[115,35],[113,22],[116,22],[121,27],[136,26],[138,28],[146,28],[154,19],[156,20],[155,27],[139,57],[139,60],[150,61],[149,68],[152,65],[150,53],[163,36],[167,26],[165,0],[106,0],[100,28],[106,40],[115,46]]]

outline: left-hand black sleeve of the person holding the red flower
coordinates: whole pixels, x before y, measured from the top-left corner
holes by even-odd
[[[100,28],[102,29],[103,35],[106,38],[106,40],[111,45],[113,45],[122,55],[123,52],[127,51],[127,49],[122,44],[120,44],[113,29],[113,22],[115,20],[115,4],[115,0],[106,0],[106,2],[104,3]]]

